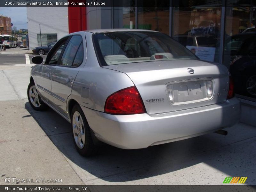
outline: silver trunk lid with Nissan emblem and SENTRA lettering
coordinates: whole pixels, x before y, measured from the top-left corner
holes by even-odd
[[[148,114],[212,105],[227,99],[229,77],[224,65],[200,60],[164,60],[104,68],[130,77]]]

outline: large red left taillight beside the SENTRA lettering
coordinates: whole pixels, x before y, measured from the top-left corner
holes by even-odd
[[[140,94],[135,86],[122,89],[110,95],[106,100],[104,111],[114,115],[146,113]]]

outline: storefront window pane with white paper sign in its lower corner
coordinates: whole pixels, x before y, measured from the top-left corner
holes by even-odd
[[[175,40],[201,60],[219,61],[220,1],[173,1],[172,18]]]

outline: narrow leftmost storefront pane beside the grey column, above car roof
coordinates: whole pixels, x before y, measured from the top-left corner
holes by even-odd
[[[135,0],[113,0],[113,27],[135,28]]]

